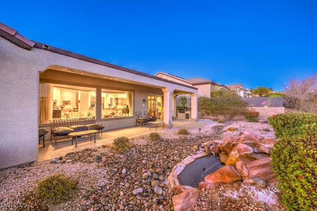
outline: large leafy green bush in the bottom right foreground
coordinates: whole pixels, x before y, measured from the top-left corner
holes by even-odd
[[[300,135],[285,136],[271,152],[282,201],[290,211],[317,210],[317,124],[301,126]]]

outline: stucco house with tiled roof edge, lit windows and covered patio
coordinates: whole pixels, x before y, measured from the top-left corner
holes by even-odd
[[[2,23],[0,84],[0,168],[37,160],[38,130],[50,131],[53,118],[94,116],[110,130],[153,109],[168,125],[179,94],[191,96],[191,120],[198,117],[191,85],[33,42]]]

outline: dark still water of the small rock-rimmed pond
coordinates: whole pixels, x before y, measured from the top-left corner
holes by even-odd
[[[218,170],[224,166],[220,162],[219,156],[205,156],[198,158],[189,165],[178,175],[178,181],[181,185],[198,187],[199,183],[204,181],[205,176]]]

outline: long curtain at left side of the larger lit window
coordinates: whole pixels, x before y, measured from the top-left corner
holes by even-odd
[[[48,83],[40,83],[39,118],[40,123],[48,123],[53,114],[53,86]]]

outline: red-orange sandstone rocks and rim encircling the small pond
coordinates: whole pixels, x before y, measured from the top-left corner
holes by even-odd
[[[269,158],[274,143],[275,140],[271,138],[264,138],[250,131],[244,131],[238,138],[230,135],[223,140],[208,141],[201,144],[199,150],[205,151],[204,153],[198,153],[183,159],[173,167],[168,176],[169,186],[178,194],[172,198],[174,210],[190,211],[194,206],[192,203],[196,197],[191,196],[196,189],[191,186],[180,185],[178,175],[186,165],[197,158],[209,155],[211,152],[219,154],[220,161],[226,165],[207,175],[205,181],[199,183],[200,190],[211,190],[219,183],[233,183],[242,179],[244,183],[256,183],[261,187],[266,187],[265,180],[276,182],[276,175],[273,173]],[[152,187],[156,187],[155,185],[152,184]],[[235,183],[235,188],[240,188],[238,183]],[[193,201],[190,200],[191,197],[194,197]]]

